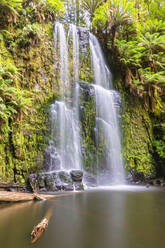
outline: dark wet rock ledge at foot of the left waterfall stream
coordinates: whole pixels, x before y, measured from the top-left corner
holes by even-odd
[[[82,180],[83,172],[81,170],[54,171],[29,175],[28,185],[31,186],[32,191],[81,191],[84,190]]]

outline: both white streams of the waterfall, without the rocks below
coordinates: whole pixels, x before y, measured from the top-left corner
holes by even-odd
[[[82,33],[86,32],[70,24],[68,34],[65,25],[57,22],[54,28],[56,55],[59,57],[61,100],[51,105],[51,136],[47,151],[50,153],[49,171],[82,170],[82,143],[80,133],[80,48],[84,56]],[[82,32],[83,31],[83,32]],[[80,33],[82,32],[82,33]],[[66,38],[67,37],[67,38]],[[121,159],[120,132],[118,123],[119,94],[112,90],[112,76],[105,63],[97,38],[91,33],[89,39],[91,68],[94,83],[96,120],[95,140],[97,161],[93,176],[97,185],[123,184],[124,169]],[[81,39],[80,39],[81,38]],[[86,44],[86,43],[85,43]],[[86,50],[87,51],[87,50]],[[72,66],[69,65],[71,61]],[[58,72],[59,71],[59,72]],[[87,83],[87,85],[90,85]],[[104,151],[99,155],[99,147]]]

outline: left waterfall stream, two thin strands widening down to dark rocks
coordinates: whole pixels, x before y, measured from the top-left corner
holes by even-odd
[[[73,69],[75,80],[79,78],[79,44],[76,26],[70,27],[73,40]],[[78,118],[78,86],[75,86],[74,104],[71,103],[71,80],[69,73],[68,41],[64,24],[57,22],[54,28],[54,43],[60,64],[61,100],[51,105],[51,142],[49,151],[52,160],[49,171],[81,169],[80,129]],[[58,166],[54,159],[58,157]],[[60,161],[60,162],[59,162]]]

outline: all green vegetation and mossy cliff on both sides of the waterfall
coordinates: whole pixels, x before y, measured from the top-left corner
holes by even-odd
[[[71,20],[65,4],[0,0],[2,181],[24,183],[42,168],[49,107],[59,97],[52,26]],[[76,6],[77,25],[88,26],[99,38],[122,97],[125,167],[144,176],[165,176],[164,2],[82,0]]]

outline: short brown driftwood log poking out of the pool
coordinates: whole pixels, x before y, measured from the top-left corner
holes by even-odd
[[[49,208],[45,217],[41,220],[41,222],[33,228],[33,231],[31,232],[31,240],[32,243],[35,243],[43,234],[43,232],[48,227],[49,220],[52,216],[53,209]]]

